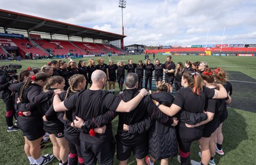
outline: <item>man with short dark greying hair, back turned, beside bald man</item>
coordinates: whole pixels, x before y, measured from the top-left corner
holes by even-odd
[[[125,102],[128,102],[139,94],[139,90],[137,88],[138,76],[134,73],[127,74],[125,86],[127,90],[119,96]],[[115,137],[117,159],[120,161],[119,164],[127,164],[127,161],[131,156],[131,152],[133,152],[137,164],[143,164],[144,158],[148,154],[147,132],[141,132],[141,134],[130,134],[129,132],[124,131],[124,123],[126,125],[131,125],[141,122],[147,114],[161,123],[168,124],[169,122],[172,122],[168,120],[168,116],[163,113],[159,113],[156,109],[157,107],[154,105],[152,99],[149,96],[146,96],[130,113],[118,113],[118,130]],[[172,123],[169,124],[171,125]]]

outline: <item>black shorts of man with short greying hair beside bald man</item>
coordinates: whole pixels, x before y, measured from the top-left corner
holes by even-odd
[[[148,155],[148,141],[140,145],[125,146],[120,141],[116,141],[117,154],[116,157],[119,161],[125,161],[131,157],[131,152],[136,159],[143,159]]]

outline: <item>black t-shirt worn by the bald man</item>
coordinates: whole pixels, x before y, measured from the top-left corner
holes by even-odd
[[[76,109],[76,116],[85,121],[106,113],[108,110],[116,111],[120,102],[121,99],[119,97],[115,97],[108,91],[83,90],[64,100],[64,105],[67,109]],[[90,136],[89,134],[81,133],[80,139],[96,144],[108,141],[113,136],[111,123],[108,123],[106,127],[104,134]]]

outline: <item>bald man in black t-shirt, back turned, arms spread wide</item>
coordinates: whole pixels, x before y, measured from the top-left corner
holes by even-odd
[[[55,111],[76,109],[76,116],[90,120],[106,113],[109,110],[116,112],[130,112],[140,103],[147,90],[143,89],[129,102],[124,102],[120,97],[115,97],[108,91],[103,91],[107,76],[102,70],[95,70],[92,74],[92,86],[61,102],[60,97],[54,96],[53,106]],[[80,127],[83,125],[80,125]],[[88,134],[89,132],[89,134]],[[111,122],[106,125],[106,132],[95,134],[92,130],[80,134],[81,153],[84,164],[113,164],[115,154],[115,139],[113,137]]]

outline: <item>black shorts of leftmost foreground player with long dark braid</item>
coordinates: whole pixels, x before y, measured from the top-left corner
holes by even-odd
[[[17,125],[22,130],[23,136],[26,136],[29,141],[34,141],[44,136],[44,123],[40,118],[29,118],[19,116]]]

